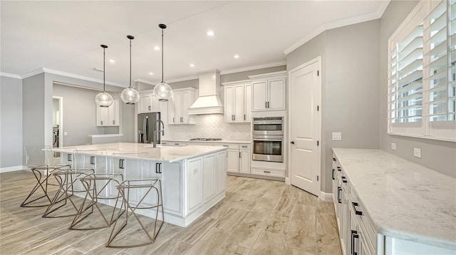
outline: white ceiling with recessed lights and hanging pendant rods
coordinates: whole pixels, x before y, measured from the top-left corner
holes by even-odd
[[[45,68],[127,87],[129,41],[133,80],[165,81],[278,66],[286,53],[328,28],[378,19],[389,0],[368,1],[0,1],[1,73],[29,76]],[[209,37],[211,29],[215,35]],[[240,58],[234,59],[234,54]],[[115,63],[108,62],[109,59]],[[190,67],[194,63],[195,67]],[[149,73],[154,73],[150,75]]]

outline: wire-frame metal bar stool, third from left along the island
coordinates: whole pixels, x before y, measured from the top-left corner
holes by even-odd
[[[123,175],[122,174],[90,174],[82,177],[81,182],[86,189],[86,197],[84,197],[83,203],[81,207],[79,207],[79,212],[71,222],[70,227],[68,229],[72,230],[89,230],[89,229],[103,229],[105,227],[110,227],[111,224],[115,221],[115,210],[119,209],[122,211],[122,207],[117,208],[118,201],[120,198],[120,193],[115,192],[116,195],[110,194],[108,189],[110,185],[117,184],[119,185],[123,182]],[[98,205],[98,200],[113,200],[115,199],[115,204],[110,215],[110,219],[106,219],[103,210],[100,209]],[[93,217],[89,217],[90,214],[93,214],[94,208],[97,210],[98,215],[103,218],[103,222],[94,219]],[[123,210],[125,212],[125,209]],[[123,212],[119,212],[123,214]],[[86,221],[85,221],[86,219]],[[89,222],[90,224],[86,224],[86,227],[80,227],[83,222]],[[100,225],[101,224],[101,225]]]

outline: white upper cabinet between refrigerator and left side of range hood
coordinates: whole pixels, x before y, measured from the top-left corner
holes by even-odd
[[[195,102],[195,88],[182,88],[172,91],[168,100],[168,124],[194,124],[195,120],[188,115],[188,108]]]

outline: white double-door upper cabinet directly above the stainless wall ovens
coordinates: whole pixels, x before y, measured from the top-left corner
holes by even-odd
[[[285,110],[286,71],[249,78],[252,80],[252,111]]]

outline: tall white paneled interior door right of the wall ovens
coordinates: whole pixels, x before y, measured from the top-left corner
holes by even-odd
[[[318,195],[320,192],[321,79],[320,60],[290,72],[291,184]]]

